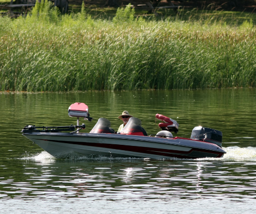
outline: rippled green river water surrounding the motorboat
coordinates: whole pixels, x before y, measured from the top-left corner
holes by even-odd
[[[223,158],[55,159],[20,133],[25,125],[66,126],[74,102],[92,122],[127,110],[156,134],[155,114],[179,122],[190,136],[198,125],[222,131]],[[256,89],[134,92],[0,93],[1,213],[255,213]],[[82,124],[82,121],[81,121]]]

